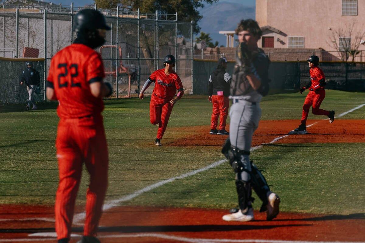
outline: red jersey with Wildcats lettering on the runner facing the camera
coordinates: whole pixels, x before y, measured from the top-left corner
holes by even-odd
[[[165,74],[165,68],[158,69],[149,77],[150,81],[155,82],[153,93],[159,98],[173,98],[177,89],[183,89],[179,75],[172,70],[169,75]]]

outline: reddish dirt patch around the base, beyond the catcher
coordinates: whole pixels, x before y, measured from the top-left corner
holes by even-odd
[[[309,126],[310,124],[314,124]],[[279,143],[325,143],[325,142],[365,142],[364,120],[307,120],[307,134],[293,134],[280,139]],[[266,144],[277,137],[285,136],[289,131],[299,126],[298,120],[260,121],[255,131],[252,146]],[[228,126],[227,126],[228,128]],[[192,128],[173,128],[191,131]],[[194,127],[194,134],[178,139],[166,145],[173,146],[221,146],[226,136],[209,134],[209,127]],[[227,129],[228,131],[228,129]]]

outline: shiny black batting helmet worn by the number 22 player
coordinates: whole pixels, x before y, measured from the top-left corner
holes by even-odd
[[[75,32],[92,31],[96,29],[111,30],[105,17],[95,9],[83,9],[74,17],[73,30]]]

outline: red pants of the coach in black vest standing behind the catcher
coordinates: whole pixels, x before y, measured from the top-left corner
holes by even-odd
[[[218,117],[219,130],[226,130],[226,120],[228,116],[229,99],[223,95],[212,95],[213,112],[211,119],[211,129],[217,129]]]

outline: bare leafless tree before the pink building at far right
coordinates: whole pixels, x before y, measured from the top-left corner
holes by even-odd
[[[362,40],[364,36],[364,25],[357,28],[356,22],[353,22],[333,30],[328,44],[337,50],[343,61],[347,62],[351,57],[354,62],[356,56],[360,54],[359,47],[364,43]]]

